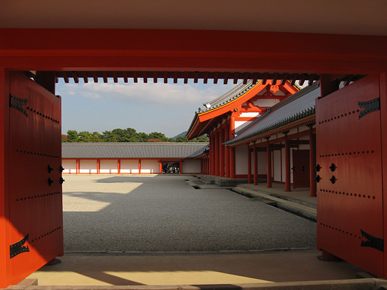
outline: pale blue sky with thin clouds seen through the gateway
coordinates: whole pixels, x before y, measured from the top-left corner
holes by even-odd
[[[135,128],[138,132],[161,132],[167,137],[187,131],[194,113],[206,101],[216,99],[234,88],[229,84],[164,84],[162,79],[153,84],[150,79],[137,84],[129,79],[113,83],[109,79],[95,84],[71,82],[61,79],[56,86],[56,95],[62,96],[62,133],[68,130],[100,132],[114,128]]]

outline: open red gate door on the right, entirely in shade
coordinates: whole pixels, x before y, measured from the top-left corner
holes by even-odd
[[[318,99],[317,247],[384,276],[379,79]]]

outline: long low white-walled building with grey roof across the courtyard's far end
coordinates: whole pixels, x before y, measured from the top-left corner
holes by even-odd
[[[67,174],[198,174],[208,143],[62,143]]]

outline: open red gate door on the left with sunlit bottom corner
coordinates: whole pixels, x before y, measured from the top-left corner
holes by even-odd
[[[61,99],[10,75],[10,255],[15,284],[63,255]]]

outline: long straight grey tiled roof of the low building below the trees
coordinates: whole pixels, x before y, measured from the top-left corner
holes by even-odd
[[[62,143],[62,158],[189,158],[205,151],[207,142]]]

